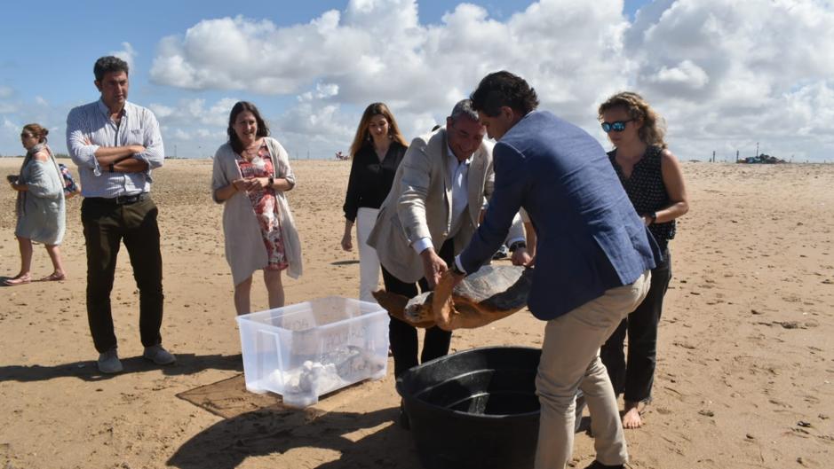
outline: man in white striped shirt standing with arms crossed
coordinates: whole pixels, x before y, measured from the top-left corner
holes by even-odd
[[[124,243],[139,287],[142,354],[157,364],[176,358],[162,347],[163,262],[151,169],[163,165],[163,139],[150,110],[127,101],[128,65],[108,56],[93,67],[101,98],[67,117],[67,147],[78,165],[87,246],[87,319],[103,373],[122,371],[110,309],[116,256]]]

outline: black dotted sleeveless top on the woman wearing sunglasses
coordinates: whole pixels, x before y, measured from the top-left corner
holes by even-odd
[[[631,177],[628,178],[624,176],[623,168],[620,168],[619,163],[616,162],[616,149],[608,152],[608,160],[611,160],[611,165],[614,166],[625,193],[631,199],[631,205],[640,216],[669,207],[669,192],[666,192],[666,184],[663,184],[663,173],[660,168],[661,152],[663,148],[656,145],[649,146],[643,158],[631,169]],[[669,240],[675,238],[675,221],[652,223],[648,225],[648,231],[655,236],[661,249],[665,249]]]

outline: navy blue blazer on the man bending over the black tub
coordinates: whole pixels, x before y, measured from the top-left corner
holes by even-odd
[[[520,207],[538,239],[528,308],[540,319],[559,317],[655,268],[654,238],[605,150],[583,129],[534,111],[501,137],[493,158],[495,192],[460,254],[464,270],[478,270],[496,252]]]

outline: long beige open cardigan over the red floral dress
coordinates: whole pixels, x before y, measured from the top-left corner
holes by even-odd
[[[273,161],[274,177],[284,177],[293,186],[295,176],[290,168],[290,157],[282,145],[272,137],[266,137],[266,146]],[[238,154],[232,150],[232,145],[224,144],[214,155],[214,168],[211,173],[211,198],[217,203],[223,203],[223,232],[226,235],[226,262],[232,268],[234,285],[240,284],[252,275],[255,270],[266,267],[266,246],[262,238],[258,220],[252,209],[250,200],[243,192],[235,193],[231,198],[218,200],[217,190],[232,184],[241,177],[240,169],[235,160]],[[301,243],[298,240],[295,222],[290,212],[287,197],[282,191],[275,191],[278,208],[281,212],[281,236],[284,251],[290,267],[287,273],[290,277],[301,276]]]

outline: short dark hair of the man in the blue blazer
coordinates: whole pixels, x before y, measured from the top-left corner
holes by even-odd
[[[538,107],[536,90],[530,88],[523,78],[506,70],[483,77],[478,89],[474,90],[469,98],[472,99],[472,106],[476,111],[486,113],[489,117],[501,113],[503,106],[510,107],[522,115]]]

